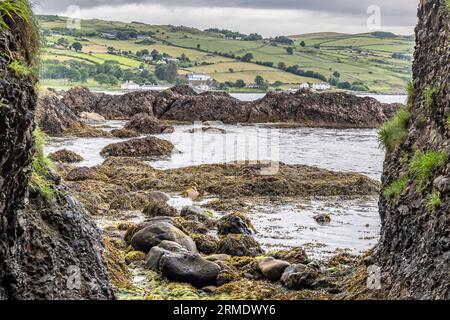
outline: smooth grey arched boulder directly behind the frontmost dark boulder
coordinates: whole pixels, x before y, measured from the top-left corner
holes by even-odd
[[[197,252],[195,242],[180,229],[167,222],[152,223],[138,231],[131,239],[131,245],[135,250],[149,252],[161,241],[173,241],[190,252]]]

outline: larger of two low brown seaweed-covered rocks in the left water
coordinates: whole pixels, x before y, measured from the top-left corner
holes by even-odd
[[[174,146],[171,142],[156,137],[137,138],[106,146],[100,154],[107,157],[168,157]]]

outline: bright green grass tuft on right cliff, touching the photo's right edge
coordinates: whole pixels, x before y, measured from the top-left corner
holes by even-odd
[[[448,154],[445,151],[417,151],[409,164],[409,169],[418,190],[422,191],[434,172],[444,167],[447,162]]]

